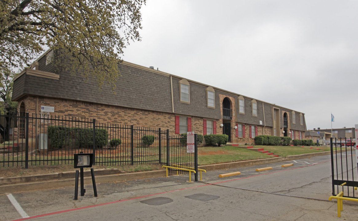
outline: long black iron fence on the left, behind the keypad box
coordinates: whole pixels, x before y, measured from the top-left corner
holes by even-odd
[[[169,130],[56,116],[3,116],[0,165],[73,164],[75,153],[94,153],[97,165],[179,164],[194,167],[186,139]],[[181,171],[182,172],[182,171]]]

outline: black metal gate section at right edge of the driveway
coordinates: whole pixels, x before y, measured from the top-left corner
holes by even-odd
[[[358,198],[358,155],[357,147],[338,145],[339,141],[331,144],[331,165],[332,165],[332,195],[336,196],[343,191],[343,197]],[[334,152],[335,151],[335,154]]]

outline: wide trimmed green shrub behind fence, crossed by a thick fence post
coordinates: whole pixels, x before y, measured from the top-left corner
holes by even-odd
[[[76,144],[82,147],[93,146],[93,128],[76,128]],[[96,134],[96,148],[101,148],[108,144],[108,131],[106,129],[97,128]]]

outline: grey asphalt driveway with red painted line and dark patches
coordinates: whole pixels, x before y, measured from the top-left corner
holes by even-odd
[[[291,167],[282,164],[294,163]],[[256,168],[272,170],[256,172]],[[73,200],[74,188],[0,196],[0,220],[358,220],[358,204],[344,202],[342,217],[332,195],[330,156],[188,176],[97,183]],[[354,168],[357,173],[357,167]],[[222,173],[241,175],[219,178]],[[21,211],[22,210],[22,211]],[[52,214],[51,214],[52,213]]]

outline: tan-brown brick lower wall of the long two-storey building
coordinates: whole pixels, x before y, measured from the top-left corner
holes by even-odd
[[[220,94],[220,102],[228,97],[227,95]],[[232,104],[235,104],[235,99],[233,97],[228,97]],[[41,105],[54,107],[53,116],[61,117],[77,117],[77,118],[95,118],[96,122],[100,123],[110,123],[110,124],[125,124],[125,125],[134,125],[141,127],[155,127],[162,129],[169,129],[170,134],[175,134],[175,116],[174,113],[164,113],[164,112],[155,112],[155,111],[146,111],[141,109],[117,107],[104,104],[88,103],[81,102],[76,100],[66,100],[58,98],[46,98],[46,97],[34,97],[26,96],[19,101],[20,104],[25,104],[25,112],[29,112],[30,116],[32,114],[38,114],[40,116]],[[236,113],[235,106],[232,105],[233,113]],[[222,108],[221,108],[222,109]],[[221,110],[222,111],[222,110]],[[190,117],[190,116],[188,116]],[[234,117],[234,116],[233,116]],[[192,117],[192,130],[195,133],[203,134],[203,119],[202,117]],[[209,118],[205,118],[209,119]],[[234,118],[236,119],[236,118]],[[222,134],[222,128],[220,124],[222,119],[210,119],[216,121],[216,130],[217,134]],[[36,122],[33,123],[34,128]],[[37,123],[38,124],[38,123]],[[245,138],[236,137],[236,130],[233,129],[236,122],[231,120],[232,125],[232,142],[233,143],[255,143],[254,138],[250,138],[250,126],[257,126],[251,124],[245,125]],[[37,129],[38,131],[39,129]],[[257,126],[257,135],[271,135],[271,127]],[[36,135],[36,131],[29,131]],[[43,132],[42,132],[43,133]],[[296,138],[299,137],[299,131],[295,131]],[[282,134],[280,134],[282,136]]]

